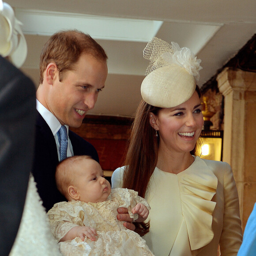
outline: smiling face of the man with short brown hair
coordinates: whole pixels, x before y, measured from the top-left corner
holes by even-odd
[[[58,75],[55,76],[46,103],[60,124],[74,128],[81,126],[87,111],[94,108],[98,93],[105,86],[107,73],[105,61],[83,54],[74,69],[63,74],[61,82]]]

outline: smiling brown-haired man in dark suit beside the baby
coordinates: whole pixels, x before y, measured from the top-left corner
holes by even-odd
[[[80,127],[87,111],[94,107],[105,86],[106,60],[104,49],[94,39],[75,30],[54,34],[42,50],[32,173],[46,211],[65,200],[55,183],[60,162],[57,132],[62,125]],[[99,161],[90,143],[68,131],[67,156],[82,154]]]

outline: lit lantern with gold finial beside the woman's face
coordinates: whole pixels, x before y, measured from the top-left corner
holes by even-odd
[[[209,160],[222,161],[223,131],[211,130],[213,125],[211,117],[215,112],[208,108],[208,97],[203,96],[203,130],[200,134],[202,145],[200,145],[200,157]]]

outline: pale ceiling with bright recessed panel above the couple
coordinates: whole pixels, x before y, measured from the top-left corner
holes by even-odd
[[[142,51],[151,36],[192,49],[202,60],[202,86],[256,33],[255,0],[4,1],[23,22],[28,55],[22,69],[36,85],[41,49],[57,30],[82,30],[102,45],[109,75],[91,114],[135,113],[149,64]]]

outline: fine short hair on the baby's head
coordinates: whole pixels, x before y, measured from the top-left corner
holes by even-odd
[[[56,167],[55,180],[57,188],[68,200],[71,200],[70,196],[68,195],[68,186],[75,185],[75,175],[78,171],[76,169],[75,162],[83,159],[92,158],[88,155],[72,156],[61,161]]]

